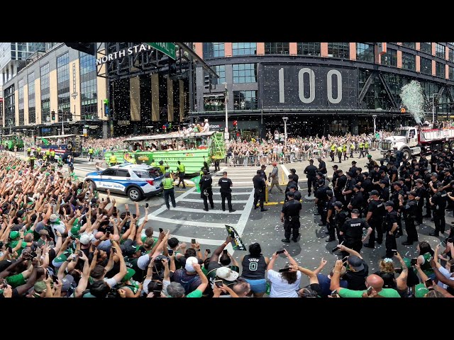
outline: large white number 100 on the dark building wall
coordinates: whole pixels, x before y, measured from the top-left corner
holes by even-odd
[[[304,91],[304,74],[309,75],[309,91]],[[304,67],[298,72],[298,96],[302,103],[312,103],[316,98],[315,72],[313,69]],[[279,69],[279,103],[285,103],[284,93],[284,67]],[[333,96],[333,84],[336,86],[336,97]],[[306,92],[306,94],[305,94]],[[308,96],[309,94],[309,96]],[[326,74],[326,97],[332,104],[342,101],[342,74],[337,69],[330,69]]]

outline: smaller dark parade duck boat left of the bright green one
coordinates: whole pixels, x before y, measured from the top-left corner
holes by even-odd
[[[66,159],[68,154],[72,152],[74,157],[79,157],[81,153],[81,136],[80,135],[55,135],[55,136],[44,136],[36,139],[36,145],[33,147],[33,151],[37,147],[41,148],[43,154],[48,149],[54,149],[55,156]]]

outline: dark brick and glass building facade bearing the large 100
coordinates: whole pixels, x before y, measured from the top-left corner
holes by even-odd
[[[373,120],[377,129],[392,129],[414,124],[399,94],[417,80],[425,111],[433,106],[441,120],[453,111],[453,44],[196,42],[197,54],[219,77],[196,69],[190,116],[209,118],[211,128],[223,130],[227,108],[228,130],[243,135],[283,132],[283,117],[290,135],[370,132]]]

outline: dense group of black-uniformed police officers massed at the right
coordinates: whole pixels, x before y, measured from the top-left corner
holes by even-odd
[[[435,230],[431,236],[438,237],[445,232],[446,203],[451,209],[454,206],[454,196],[450,194],[454,188],[450,152],[433,154],[430,162],[425,155],[421,155],[419,162],[416,158],[411,162],[404,158],[401,162],[392,154],[388,164],[381,161],[380,166],[371,155],[367,157],[368,172],[362,172],[355,161],[347,174],[334,165],[333,190],[326,185],[323,174],[316,172],[312,181],[317,207],[315,215],[321,216],[319,225],[327,227],[329,237],[326,242],[335,241],[337,232],[339,243],[344,242],[345,246],[359,252],[362,246],[375,248],[375,242],[382,244],[385,235],[386,254],[383,257],[392,257],[397,249],[396,238],[404,234],[402,217],[407,235],[403,245],[418,242],[416,225],[432,214]],[[314,169],[308,170],[308,182],[312,171]],[[423,215],[424,200],[426,215]],[[367,229],[365,237],[363,229]]]

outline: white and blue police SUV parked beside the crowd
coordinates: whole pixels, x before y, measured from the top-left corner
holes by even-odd
[[[126,194],[137,201],[144,197],[155,196],[162,192],[160,184],[164,179],[159,168],[146,164],[123,163],[111,166],[101,172],[90,172],[84,181],[94,190]]]

